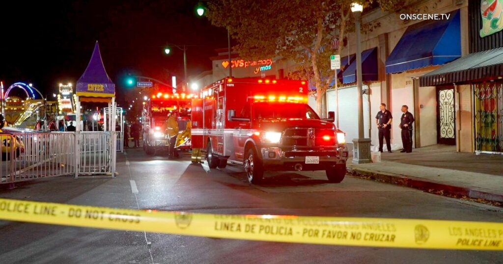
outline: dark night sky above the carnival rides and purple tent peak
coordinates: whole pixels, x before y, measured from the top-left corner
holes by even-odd
[[[225,29],[195,13],[198,1],[9,2],[2,3],[0,80],[32,82],[45,95],[60,82],[76,82],[96,40],[118,96],[128,72],[182,80],[183,52],[165,55],[166,43],[198,45],[187,51],[189,75],[211,69],[208,57],[227,46]]]

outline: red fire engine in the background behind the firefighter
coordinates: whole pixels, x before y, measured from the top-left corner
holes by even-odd
[[[180,136],[187,134],[187,140],[183,140],[177,147],[181,149],[189,149],[190,144],[190,122],[191,115],[191,100],[193,94],[172,94],[155,92],[150,100],[145,102],[142,111],[142,125],[143,125],[143,149],[148,155],[154,155],[156,152],[165,151],[169,149],[170,140],[165,134],[166,122],[168,114],[177,111],[178,115],[178,128]],[[179,136],[179,137],[180,137]],[[182,138],[183,139],[183,138]]]

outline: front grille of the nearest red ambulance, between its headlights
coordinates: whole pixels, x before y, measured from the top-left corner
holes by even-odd
[[[329,136],[323,139],[323,136]],[[315,147],[336,145],[335,133],[331,129],[287,128],[283,132],[283,147]]]

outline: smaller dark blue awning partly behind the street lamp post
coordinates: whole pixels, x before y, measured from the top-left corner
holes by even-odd
[[[349,66],[343,71],[342,75],[343,83],[356,82],[356,59],[349,64]],[[373,81],[378,79],[379,71],[377,69],[377,47],[364,50],[362,52],[362,80]]]

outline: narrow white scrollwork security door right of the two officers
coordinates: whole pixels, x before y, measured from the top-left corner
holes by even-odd
[[[437,143],[456,145],[454,87],[437,87]]]

